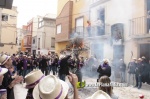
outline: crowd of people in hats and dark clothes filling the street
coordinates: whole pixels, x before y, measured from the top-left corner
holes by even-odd
[[[54,99],[54,97],[55,99],[70,99],[68,98],[69,86],[66,83],[68,77],[74,93],[71,99],[79,99],[77,83],[82,82],[82,69],[98,72],[97,82],[101,83],[114,81],[116,70],[120,71],[120,81],[122,83],[130,83],[130,79],[126,81],[127,70],[128,78],[135,77],[135,87],[140,89],[142,82],[150,83],[150,61],[147,63],[145,59],[145,57],[138,60],[133,58],[133,61],[126,66],[123,59],[120,59],[117,63],[116,61],[110,62],[108,59],[99,62],[93,56],[84,59],[81,56],[58,56],[56,53],[38,56],[24,55],[23,53],[13,54],[12,56],[1,54],[0,97],[3,97],[1,99],[15,99],[13,87],[23,82],[26,84],[25,88],[28,89],[26,99]],[[59,86],[58,89],[55,89],[55,86]],[[82,83],[79,86],[82,86]],[[52,91],[52,89],[55,90]],[[47,91],[51,93],[46,95],[45,92]],[[118,99],[113,93],[112,86],[100,86],[99,90],[88,99],[96,99],[95,97],[101,97],[101,95],[106,99]]]

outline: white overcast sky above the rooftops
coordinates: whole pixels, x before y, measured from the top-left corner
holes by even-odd
[[[14,0],[13,6],[17,6],[17,27],[26,25],[37,15],[44,16],[47,13],[57,14],[58,0]]]

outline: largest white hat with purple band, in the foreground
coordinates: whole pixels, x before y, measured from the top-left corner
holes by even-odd
[[[34,99],[65,99],[69,86],[53,75],[45,76],[33,89]]]

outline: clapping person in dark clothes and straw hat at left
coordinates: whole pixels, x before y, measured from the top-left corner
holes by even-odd
[[[7,55],[1,55],[0,56],[0,63],[1,67],[10,69],[12,67],[12,60],[10,56]],[[16,76],[14,79],[11,77],[10,71],[7,71],[4,74],[3,82],[1,87],[3,89],[7,89],[7,99],[15,99],[14,98],[14,91],[13,87],[14,85],[20,83],[23,80],[21,76]]]

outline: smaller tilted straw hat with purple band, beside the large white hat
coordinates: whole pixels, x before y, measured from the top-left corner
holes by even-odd
[[[25,76],[25,85],[27,89],[34,88],[39,81],[44,77],[41,70],[33,70]]]

